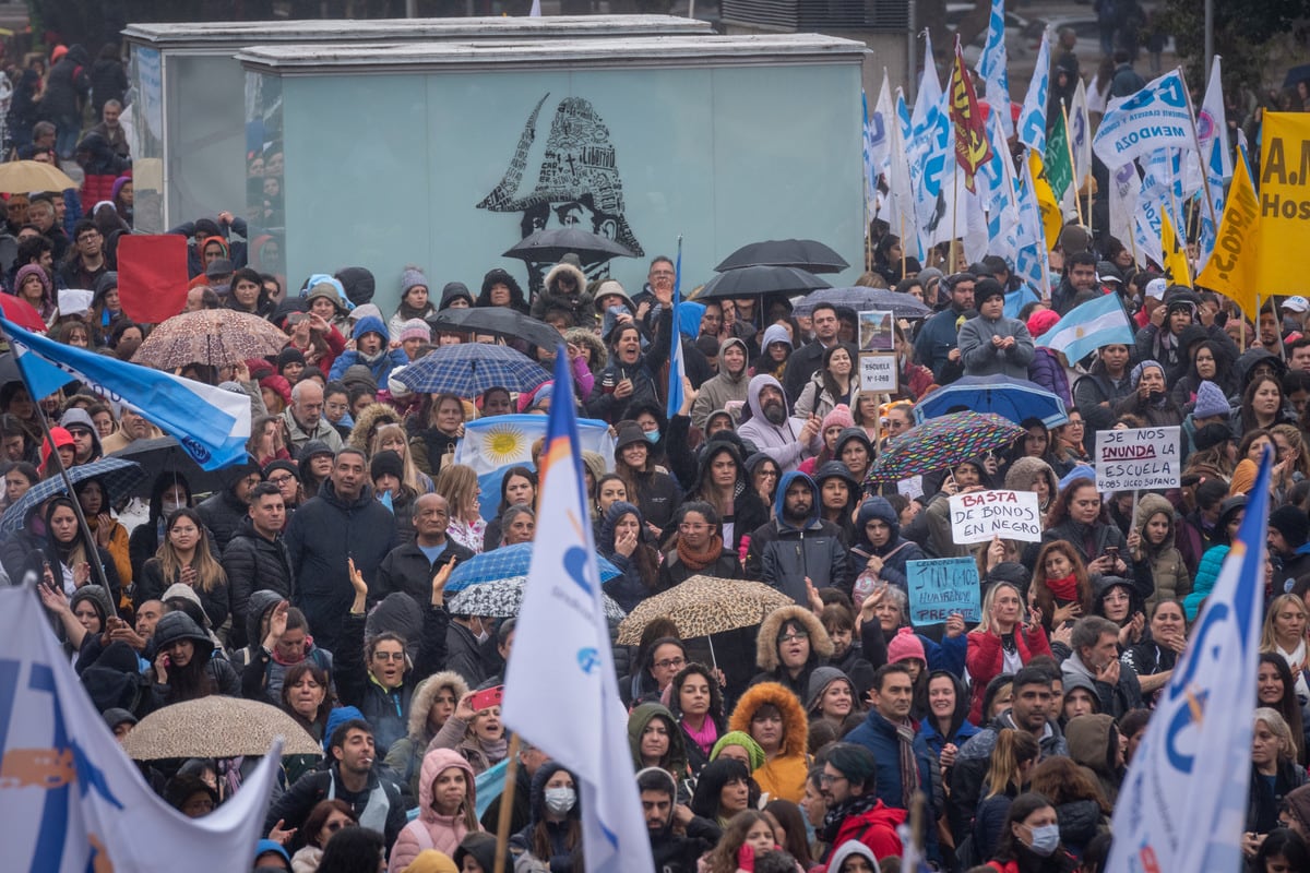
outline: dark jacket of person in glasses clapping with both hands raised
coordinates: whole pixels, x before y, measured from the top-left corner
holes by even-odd
[[[414,666],[401,677],[401,685],[385,690],[373,682],[364,662],[363,615],[346,614],[341,623],[341,648],[337,652],[337,695],[346,705],[359,707],[373,726],[377,757],[385,758],[392,743],[409,733],[409,705],[414,687],[443,669],[445,664],[445,628],[451,614],[439,606],[423,610],[423,640]]]

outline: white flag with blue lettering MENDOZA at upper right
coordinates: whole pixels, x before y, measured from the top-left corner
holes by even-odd
[[[1091,148],[1106,166],[1123,166],[1157,149],[1195,151],[1192,110],[1176,69],[1128,97],[1110,101]]]

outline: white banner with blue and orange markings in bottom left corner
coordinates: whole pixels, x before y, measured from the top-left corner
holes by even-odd
[[[0,843],[31,873],[248,873],[280,745],[204,818],[156,794],[68,664],[30,586],[0,590]]]

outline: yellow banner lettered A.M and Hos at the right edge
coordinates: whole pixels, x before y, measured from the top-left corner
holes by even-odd
[[[1260,263],[1264,296],[1310,294],[1310,114],[1265,113],[1260,131]],[[1225,209],[1226,212],[1226,209]]]

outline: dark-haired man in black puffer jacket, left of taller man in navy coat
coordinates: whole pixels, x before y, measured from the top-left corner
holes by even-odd
[[[282,541],[286,518],[282,491],[271,482],[261,482],[250,491],[249,514],[223,550],[223,572],[232,593],[232,648],[249,643],[245,631],[252,594],[270,590],[290,601],[295,592],[291,558]]]

